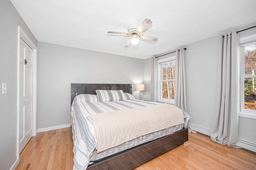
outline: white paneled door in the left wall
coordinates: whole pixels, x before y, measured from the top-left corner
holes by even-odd
[[[32,137],[33,50],[20,38],[19,153]]]

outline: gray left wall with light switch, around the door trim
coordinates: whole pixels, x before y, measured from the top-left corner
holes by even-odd
[[[18,84],[18,26],[35,45],[30,32],[10,0],[0,2],[0,169],[7,170],[17,159],[17,84]],[[2,94],[7,83],[7,94]]]

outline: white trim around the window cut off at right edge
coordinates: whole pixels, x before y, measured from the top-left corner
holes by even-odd
[[[256,34],[240,38],[240,49],[243,49],[243,46],[253,43],[256,41]],[[248,42],[248,43],[247,43]],[[239,117],[246,117],[249,119],[256,119],[256,110],[244,109],[244,78],[250,78],[252,76],[244,75],[244,50],[240,50],[240,112]],[[256,78],[256,75],[253,77]]]

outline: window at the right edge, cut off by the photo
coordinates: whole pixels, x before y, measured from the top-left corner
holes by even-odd
[[[240,39],[240,56],[241,112],[256,115],[256,40],[241,43]]]

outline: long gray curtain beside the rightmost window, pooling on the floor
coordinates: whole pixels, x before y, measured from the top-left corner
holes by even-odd
[[[218,85],[211,139],[235,146],[238,140],[240,86],[239,35],[236,31],[219,38]]]

